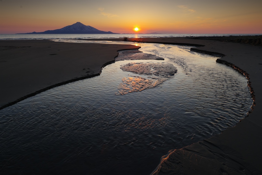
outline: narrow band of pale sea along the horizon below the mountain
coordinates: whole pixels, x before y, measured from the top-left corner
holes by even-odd
[[[96,38],[159,38],[185,36],[245,36],[261,34],[0,34],[0,40],[14,39],[96,39]]]

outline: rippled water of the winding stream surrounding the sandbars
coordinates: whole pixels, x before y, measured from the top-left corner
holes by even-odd
[[[117,61],[102,74],[0,111],[1,171],[15,174],[150,174],[161,156],[234,126],[252,103],[246,79],[189,47],[139,44],[165,60]],[[116,96],[129,62],[169,62],[156,88]]]

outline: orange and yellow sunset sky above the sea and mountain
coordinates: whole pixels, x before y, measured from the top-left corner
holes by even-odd
[[[76,22],[114,33],[261,34],[262,0],[0,0],[0,34]]]

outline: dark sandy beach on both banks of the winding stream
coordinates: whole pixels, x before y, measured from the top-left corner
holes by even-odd
[[[255,96],[248,117],[219,135],[184,148],[174,148],[162,157],[152,174],[262,174],[261,46],[193,37],[128,41],[198,46],[192,50],[221,56],[224,63],[247,72]],[[104,65],[114,62],[117,50],[138,48],[49,40],[1,40],[0,109],[52,87],[100,75]]]

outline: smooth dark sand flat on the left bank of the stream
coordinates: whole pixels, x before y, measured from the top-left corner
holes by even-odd
[[[55,86],[100,75],[134,45],[0,40],[0,109]]]

